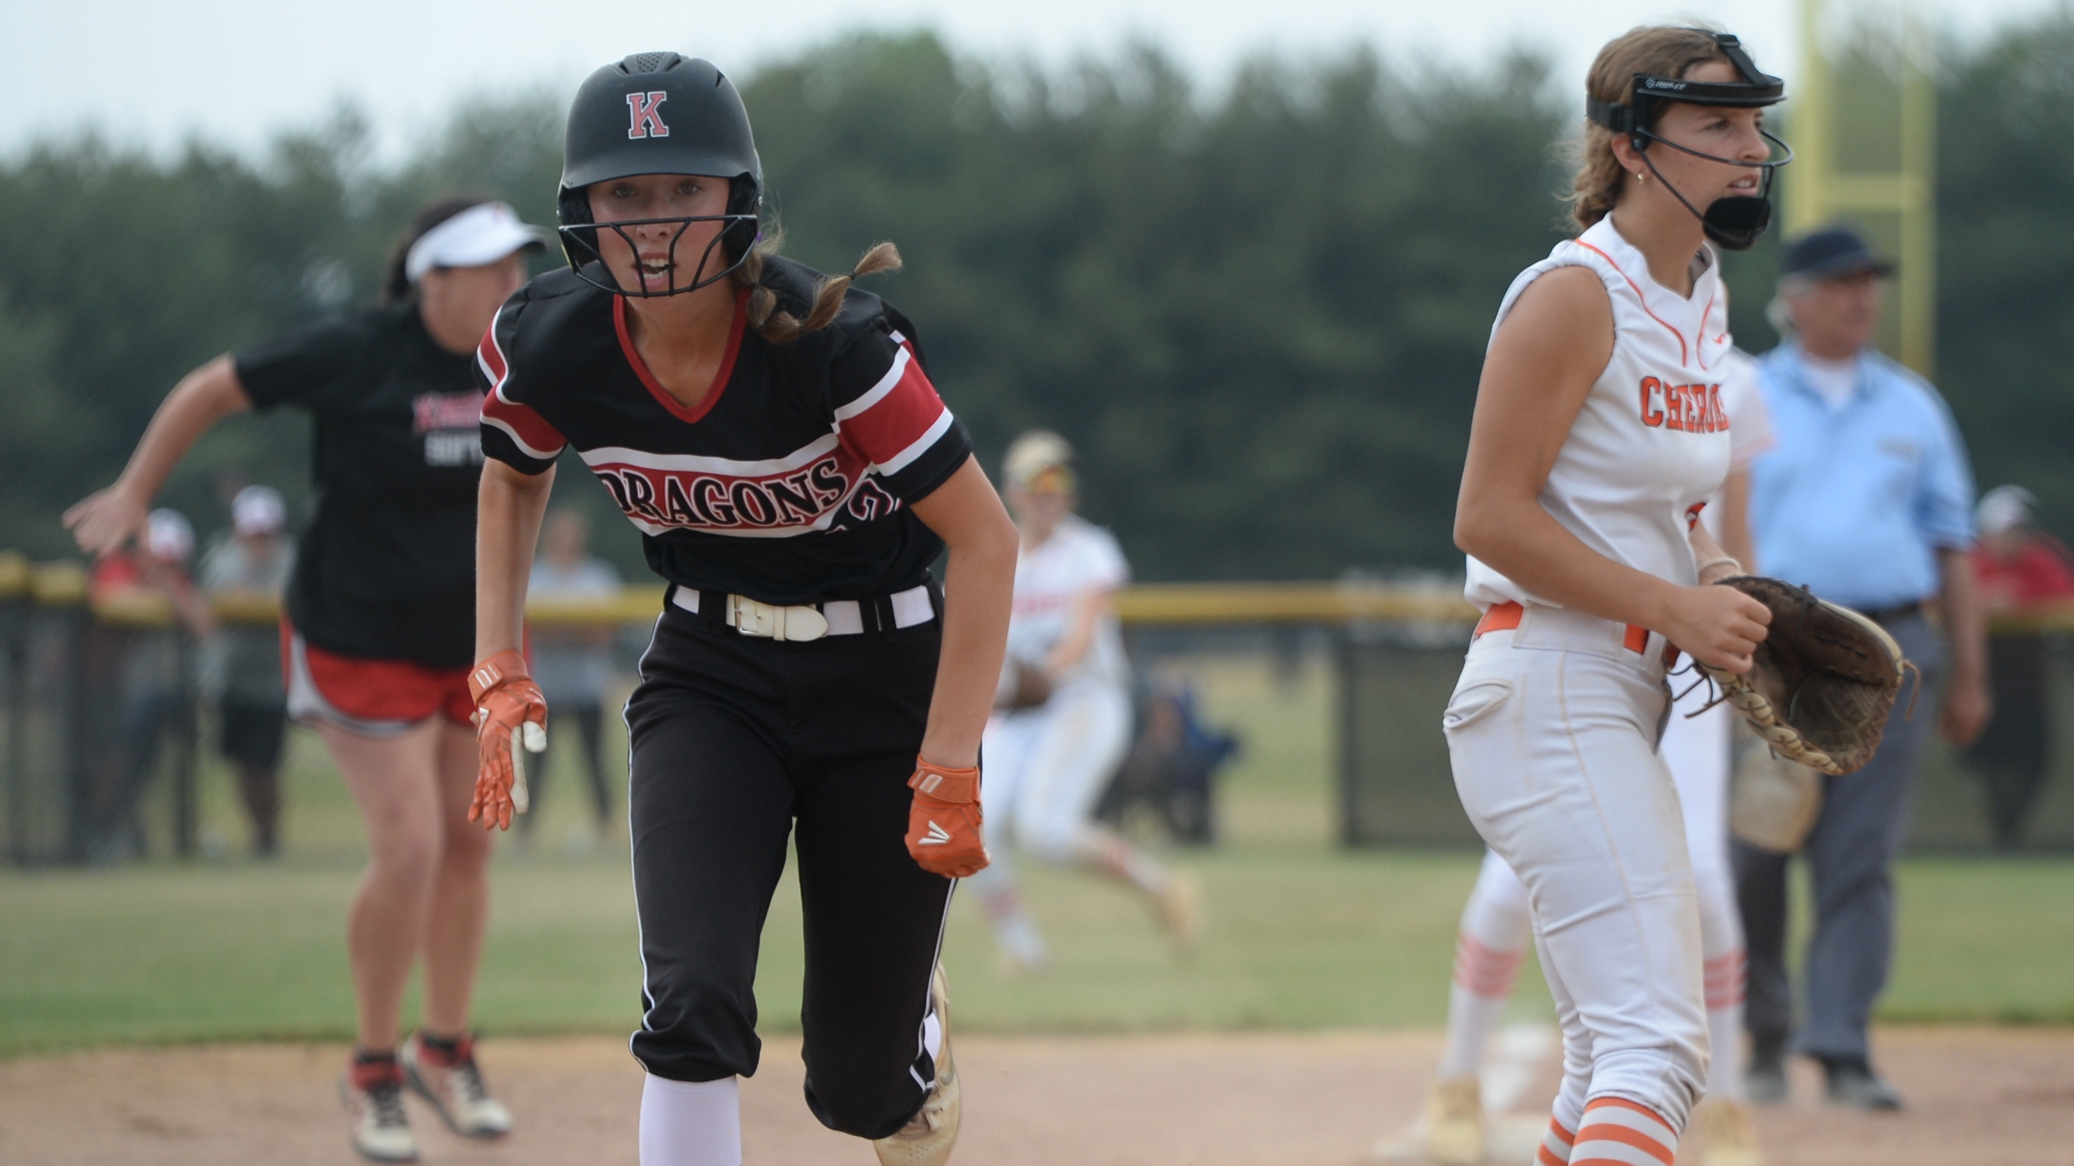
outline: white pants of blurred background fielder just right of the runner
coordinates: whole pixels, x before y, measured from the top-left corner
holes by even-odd
[[[1002,855],[1012,836],[1039,859],[1072,861],[1126,749],[1130,693],[1122,685],[1068,685],[1041,707],[996,716],[981,743],[987,851]]]

